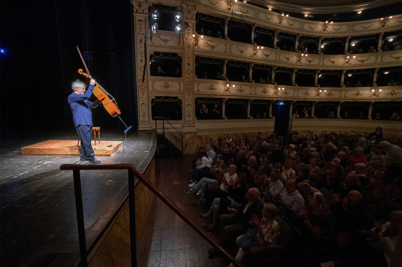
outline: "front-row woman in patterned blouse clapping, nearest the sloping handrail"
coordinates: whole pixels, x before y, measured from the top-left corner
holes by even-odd
[[[247,251],[252,246],[274,245],[278,242],[280,235],[279,223],[275,220],[278,208],[272,203],[266,203],[261,211],[261,220],[257,215],[253,215],[250,224],[254,228],[247,229],[247,233],[236,238],[239,251],[235,257],[236,260],[242,261],[244,251]],[[233,263],[228,265],[233,267]]]

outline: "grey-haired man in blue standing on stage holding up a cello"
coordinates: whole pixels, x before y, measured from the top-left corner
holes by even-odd
[[[75,80],[71,83],[73,92],[68,96],[68,104],[71,107],[74,126],[77,129],[78,136],[81,139],[81,161],[89,161],[92,164],[98,164],[100,161],[95,159],[91,145],[92,134],[92,111],[98,105],[98,101],[91,102],[89,97],[95,87],[95,80],[91,79],[88,90],[85,92],[85,83]]]

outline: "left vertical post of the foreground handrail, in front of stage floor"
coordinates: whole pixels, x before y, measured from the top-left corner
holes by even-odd
[[[75,209],[77,211],[78,241],[79,253],[81,255],[81,266],[87,267],[88,262],[86,254],[84,211],[82,208],[81,178],[79,176],[79,170],[73,170],[72,173],[74,178]]]

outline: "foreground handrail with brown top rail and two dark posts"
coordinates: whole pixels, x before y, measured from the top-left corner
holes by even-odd
[[[75,208],[77,211],[78,240],[81,256],[81,265],[88,266],[87,251],[85,241],[85,226],[82,207],[82,192],[80,170],[128,170],[129,175],[129,217],[130,217],[130,243],[131,243],[131,266],[137,266],[136,253],[136,230],[135,230],[135,183],[134,177],[142,182],[152,193],[162,200],[174,213],[176,213],[185,223],[194,229],[200,236],[207,240],[213,247],[226,256],[235,266],[243,265],[237,261],[229,252],[227,252],[219,243],[212,239],[206,231],[196,225],[176,204],[174,204],[159,188],[148,181],[144,175],[132,164],[98,164],[98,165],[79,165],[63,164],[60,170],[72,170],[74,179]]]

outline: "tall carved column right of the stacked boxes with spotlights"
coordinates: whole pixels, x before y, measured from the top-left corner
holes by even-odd
[[[184,23],[183,29],[183,78],[184,78],[184,124],[183,132],[195,132],[194,126],[194,40],[192,34],[195,29],[195,14],[197,6],[182,4]]]

